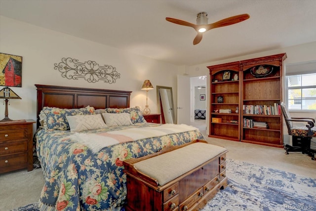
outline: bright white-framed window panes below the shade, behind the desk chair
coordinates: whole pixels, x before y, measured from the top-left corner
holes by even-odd
[[[290,75],[285,79],[288,109],[316,111],[316,73]]]

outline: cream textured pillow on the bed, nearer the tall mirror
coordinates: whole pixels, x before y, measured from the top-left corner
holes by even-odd
[[[130,114],[128,113],[102,113],[102,116],[105,120],[107,126],[129,126],[133,125],[132,121],[130,120]]]

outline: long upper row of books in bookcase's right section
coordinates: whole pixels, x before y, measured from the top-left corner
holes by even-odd
[[[243,114],[280,115],[281,108],[278,103],[274,105],[242,105]]]

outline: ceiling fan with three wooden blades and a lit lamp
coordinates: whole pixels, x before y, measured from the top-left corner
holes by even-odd
[[[193,24],[193,23],[179,20],[179,19],[175,19],[175,18],[168,18],[168,17],[166,17],[166,20],[171,22],[171,23],[175,23],[175,24],[179,24],[179,25],[183,25],[183,26],[190,26],[190,27],[194,28],[197,31],[197,36],[193,40],[193,44],[196,45],[199,42],[201,42],[204,32],[207,32],[208,30],[215,29],[218,27],[229,26],[229,25],[232,25],[235,23],[239,23],[241,21],[247,20],[249,17],[250,16],[248,14],[241,14],[241,15],[236,15],[236,16],[232,16],[229,18],[225,18],[225,19],[217,21],[215,23],[208,24],[207,13],[206,12],[199,12],[199,13],[197,13],[197,24]]]

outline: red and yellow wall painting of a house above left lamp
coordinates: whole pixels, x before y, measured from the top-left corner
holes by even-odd
[[[22,87],[22,56],[0,53],[0,85]]]

